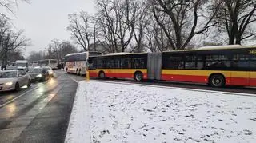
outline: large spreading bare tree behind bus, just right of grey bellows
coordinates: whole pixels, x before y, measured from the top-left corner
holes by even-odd
[[[150,0],[154,18],[166,34],[173,50],[183,50],[197,34],[203,34],[218,22],[212,22],[216,9],[209,9],[208,15],[199,11],[206,6],[205,0]],[[207,3],[209,4],[209,3]],[[210,7],[210,6],[209,6]],[[165,23],[170,22],[173,30]]]

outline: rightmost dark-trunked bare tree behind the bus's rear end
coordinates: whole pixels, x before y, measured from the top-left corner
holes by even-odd
[[[229,44],[241,44],[246,38],[256,36],[256,31],[251,27],[256,23],[255,0],[219,0],[217,20],[219,26],[226,30]]]

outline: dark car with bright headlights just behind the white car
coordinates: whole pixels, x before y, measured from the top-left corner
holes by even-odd
[[[50,77],[48,71],[42,68],[34,68],[29,74],[32,81],[46,81]]]

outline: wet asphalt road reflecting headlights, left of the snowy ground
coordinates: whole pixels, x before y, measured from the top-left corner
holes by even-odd
[[[64,142],[78,83],[55,73],[28,89],[0,93],[0,142]]]

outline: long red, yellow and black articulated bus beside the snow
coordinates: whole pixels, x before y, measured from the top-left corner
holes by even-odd
[[[256,47],[210,46],[145,54],[90,57],[90,77],[120,77],[256,86]]]

